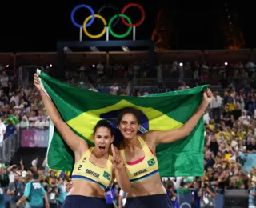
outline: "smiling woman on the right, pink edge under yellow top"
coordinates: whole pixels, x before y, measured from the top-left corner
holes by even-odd
[[[198,110],[182,127],[175,130],[151,130],[145,134],[138,134],[140,129],[138,111],[132,108],[121,111],[118,115],[118,126],[123,141],[118,149],[131,182],[125,207],[154,208],[155,204],[158,208],[172,207],[158,172],[156,145],[175,142],[189,135],[202,117],[212,96],[210,89],[204,91]]]

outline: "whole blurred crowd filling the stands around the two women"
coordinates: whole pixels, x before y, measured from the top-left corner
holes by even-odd
[[[71,85],[121,96],[186,90],[209,83],[214,98],[203,115],[205,174],[203,177],[162,178],[163,185],[176,208],[182,205],[182,197],[186,195],[190,197],[190,207],[217,207],[218,195],[225,194],[226,190],[249,191],[250,207],[254,207],[254,62],[158,62],[154,71],[147,70],[147,66],[146,61],[136,61],[128,65],[98,62],[95,65],[66,70],[65,77],[66,82]],[[31,180],[42,183],[50,207],[61,207],[67,194],[65,185],[70,173],[50,170],[46,166],[47,143],[46,146],[32,144],[46,140],[44,135],[47,135],[50,121],[40,94],[34,89],[33,76],[30,78],[30,74],[34,74],[36,69],[54,75],[52,65],[21,66],[18,72],[10,70],[10,66],[1,68],[0,207],[16,207],[22,197],[26,197],[26,201],[19,207],[30,207],[34,199],[27,195],[25,187]],[[24,70],[31,72],[24,75]],[[38,132],[46,134],[38,136]],[[29,141],[26,146],[21,145],[24,144],[24,139]],[[118,184],[114,184],[108,191],[106,200],[110,207],[123,207],[126,193],[120,190]]]

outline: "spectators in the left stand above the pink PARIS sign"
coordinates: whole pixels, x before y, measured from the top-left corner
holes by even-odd
[[[34,90],[34,87],[29,85],[22,87],[17,83],[9,82],[5,71],[2,71],[0,76],[0,84],[2,86],[2,90],[0,90],[0,117],[2,122],[6,124],[6,138],[19,129],[48,128],[49,117],[40,99],[40,94]],[[10,117],[16,118],[15,126],[12,128],[8,127],[12,124],[12,122],[8,122]]]

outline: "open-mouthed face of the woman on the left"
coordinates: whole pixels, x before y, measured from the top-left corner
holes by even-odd
[[[108,152],[110,144],[114,141],[114,136],[111,135],[111,130],[107,127],[98,127],[93,136],[95,149],[105,154]]]

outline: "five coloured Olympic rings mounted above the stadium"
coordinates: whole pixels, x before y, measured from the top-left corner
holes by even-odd
[[[125,14],[126,10],[129,9],[131,6],[138,7],[138,9],[141,10],[141,12],[142,12],[142,18],[135,24],[133,24],[131,22],[130,18]],[[85,21],[83,22],[82,25],[79,25],[74,20],[74,13],[78,9],[81,9],[81,8],[86,8],[86,9],[90,10],[91,15],[85,19]],[[82,28],[84,33],[88,37],[95,39],[95,38],[101,38],[104,34],[106,34],[107,30],[109,30],[110,34],[112,34],[112,36],[114,36],[115,38],[125,38],[127,35],[130,34],[130,32],[132,30],[132,27],[140,26],[142,24],[142,22],[144,22],[144,19],[145,19],[145,10],[142,8],[142,6],[138,5],[137,3],[130,3],[130,4],[127,4],[126,6],[124,6],[122,8],[121,14],[119,14],[118,11],[117,11],[117,14],[115,14],[112,18],[110,18],[110,21],[107,23],[106,19],[103,18],[102,15],[100,15],[102,10],[104,10],[106,8],[116,10],[114,6],[110,6],[110,5],[102,6],[102,8],[98,10],[98,14],[95,14],[93,8],[86,5],[86,4],[81,4],[81,5],[75,6],[74,9],[72,10],[71,14],[70,14],[71,21],[74,24],[74,26],[77,26],[78,28]],[[119,22],[120,17],[121,17],[122,22],[126,26],[128,26],[128,30],[124,34],[116,34],[112,30],[112,28]],[[87,27],[91,26],[94,23],[95,18],[99,18],[100,20],[102,20],[102,23],[104,25],[103,30],[100,34],[90,34],[87,30]],[[114,20],[115,20],[115,22],[114,22]]]

